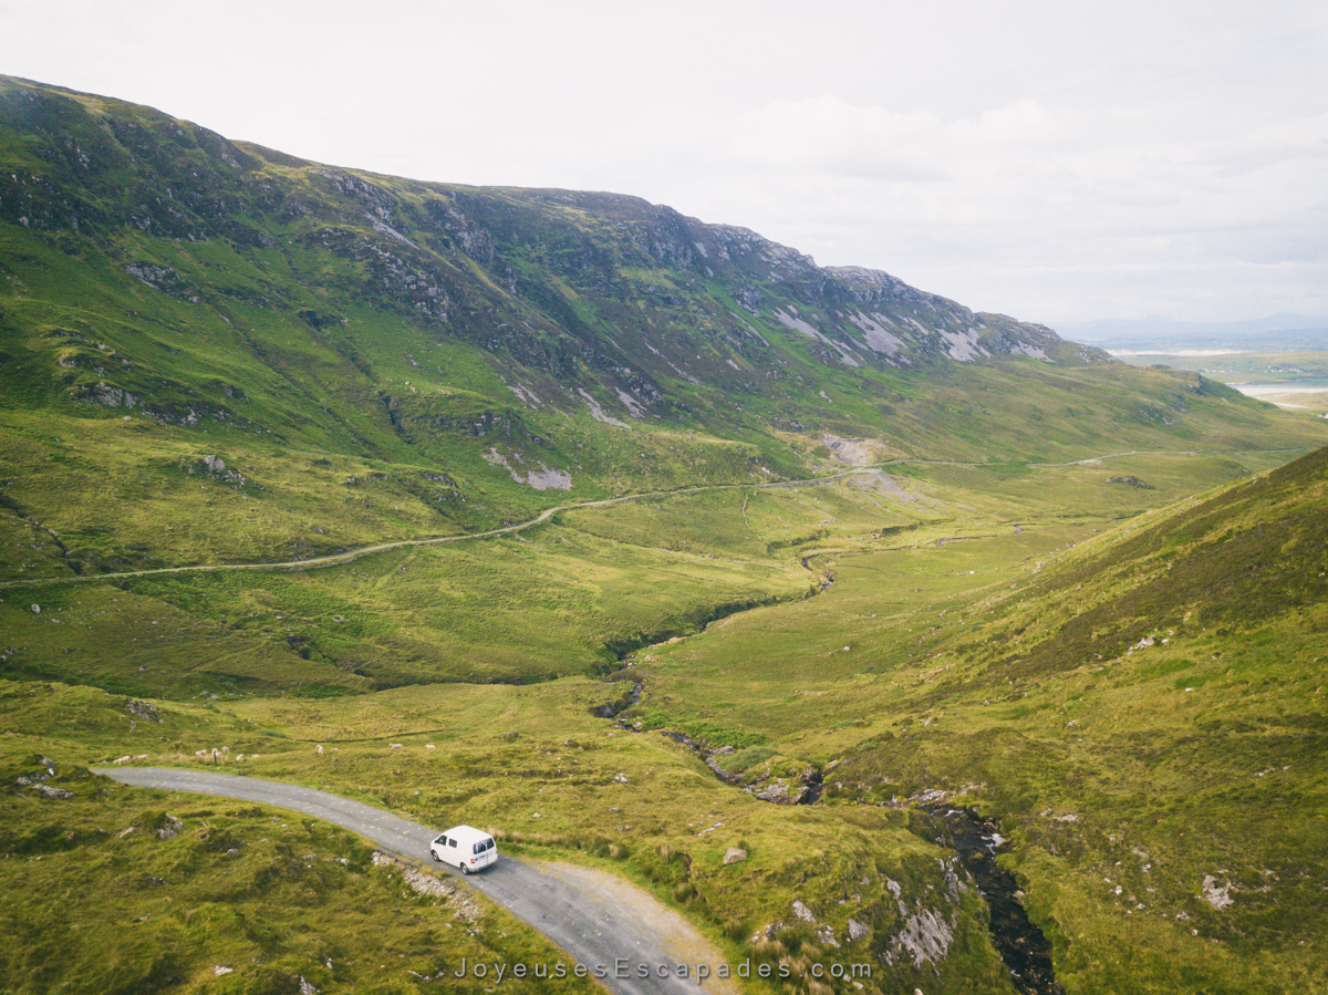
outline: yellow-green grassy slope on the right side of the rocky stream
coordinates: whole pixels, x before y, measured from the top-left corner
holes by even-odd
[[[652,650],[639,716],[813,763],[830,805],[996,817],[1065,991],[1313,990],[1325,522],[1319,450],[1078,545],[839,554],[815,602]]]

